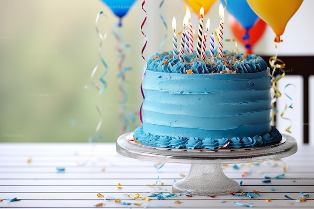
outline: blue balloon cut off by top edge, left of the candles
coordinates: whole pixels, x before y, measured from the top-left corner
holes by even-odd
[[[118,26],[122,26],[122,18],[127,14],[136,0],[101,0],[119,18]]]

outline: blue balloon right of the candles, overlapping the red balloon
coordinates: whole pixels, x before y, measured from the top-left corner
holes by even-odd
[[[244,29],[249,30],[255,25],[258,16],[253,12],[246,0],[221,0],[224,7],[226,7],[226,2],[226,10],[235,17]]]

